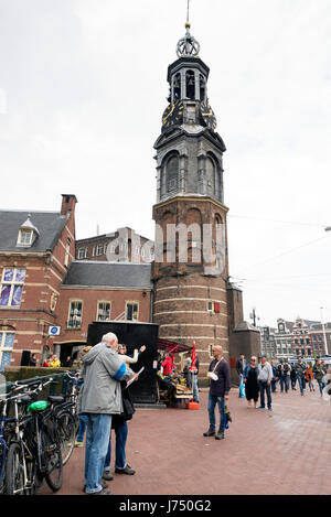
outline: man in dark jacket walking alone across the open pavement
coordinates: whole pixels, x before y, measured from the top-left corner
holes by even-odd
[[[222,346],[213,346],[214,359],[210,364],[207,377],[211,379],[209,396],[210,429],[203,433],[204,437],[215,437],[215,440],[224,439],[225,429],[225,401],[228,400],[231,390],[231,375],[227,362],[223,357]],[[215,406],[218,405],[220,428],[216,430]]]

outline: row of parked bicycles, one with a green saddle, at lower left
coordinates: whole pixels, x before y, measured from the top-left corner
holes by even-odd
[[[46,387],[64,383],[64,396]],[[77,379],[71,371],[0,387],[0,494],[36,494],[44,482],[62,486],[78,429]]]

